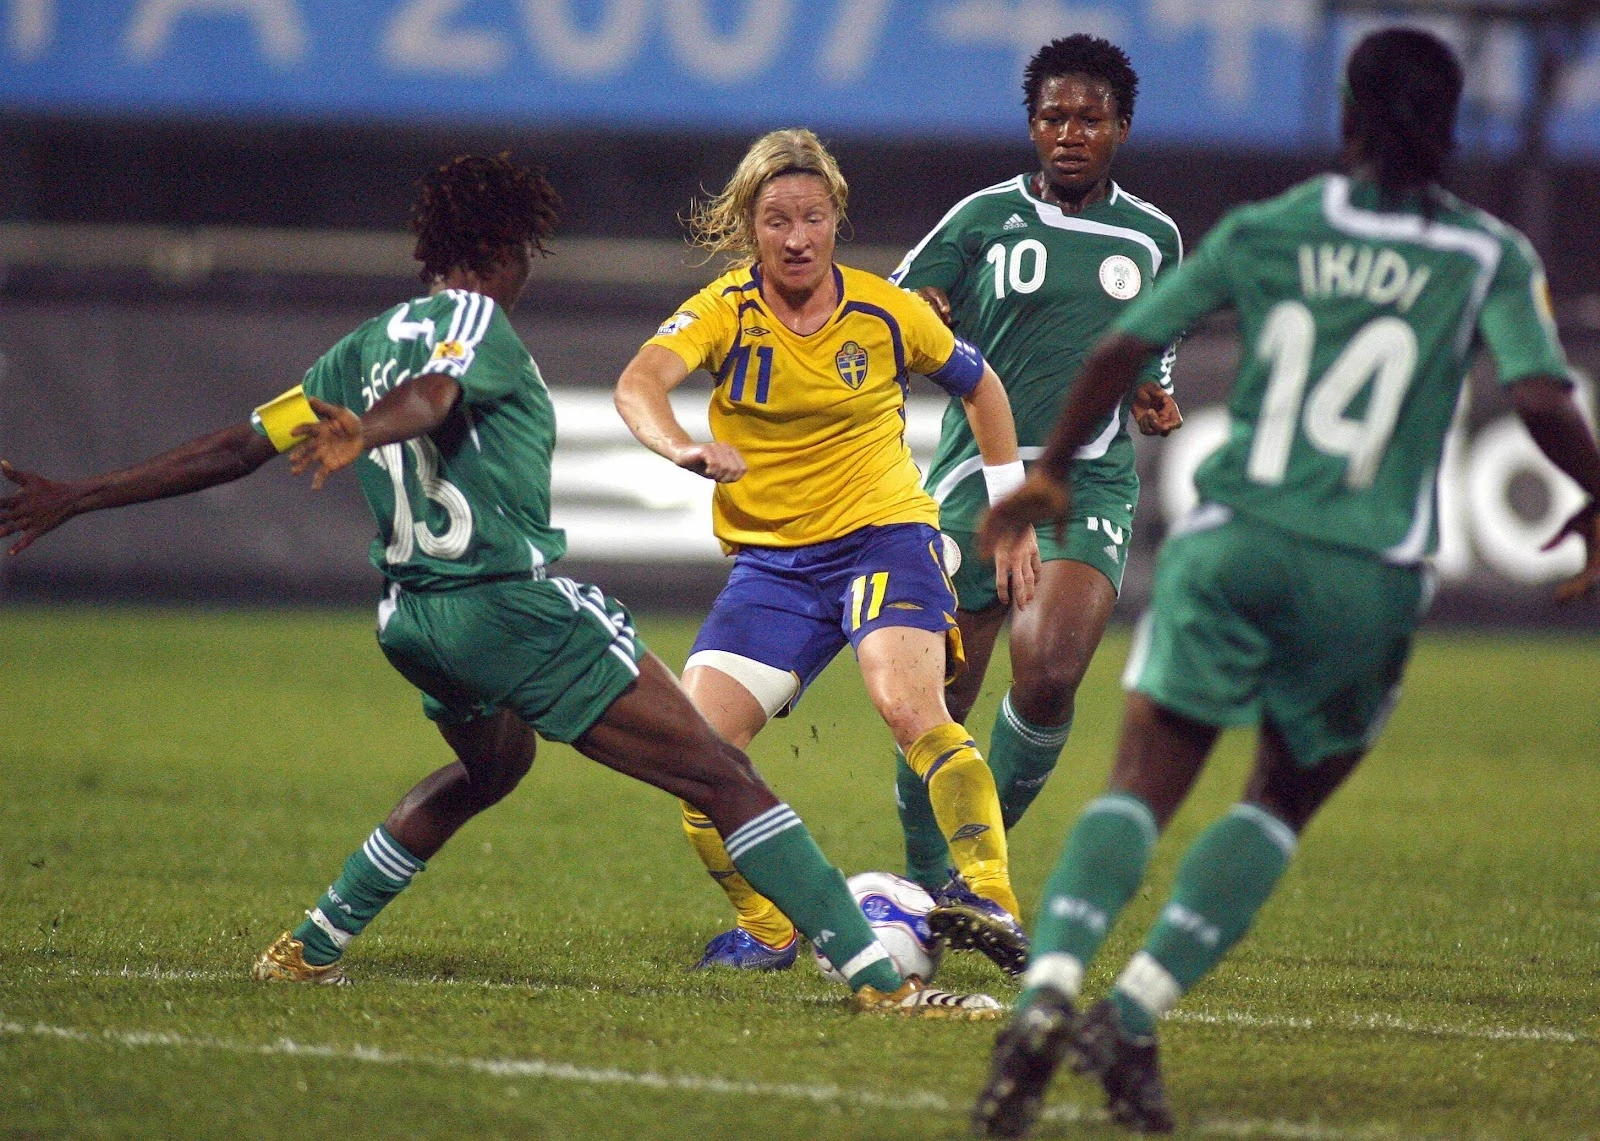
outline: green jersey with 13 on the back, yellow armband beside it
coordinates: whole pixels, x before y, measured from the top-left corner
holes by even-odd
[[[542,575],[566,552],[565,533],[550,526],[555,411],[538,365],[490,298],[445,290],[395,306],[333,346],[304,386],[363,413],[424,373],[461,384],[448,419],[355,461],[378,520],[373,565],[406,591]]]

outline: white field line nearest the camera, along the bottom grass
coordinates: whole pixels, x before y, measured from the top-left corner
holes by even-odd
[[[454,1055],[403,1055],[378,1047],[334,1047],[293,1039],[277,1039],[266,1043],[234,1042],[210,1035],[184,1035],[170,1031],[85,1031],[70,1026],[45,1023],[6,1021],[0,1016],[0,1037],[53,1039],[85,1045],[110,1045],[130,1050],[165,1047],[168,1050],[202,1050],[248,1056],[317,1058],[323,1061],[360,1063],[366,1066],[394,1066],[410,1069],[445,1069],[490,1077],[525,1077],[547,1082],[578,1082],[582,1085],[621,1085],[678,1093],[701,1093],[750,1099],[810,1101],[813,1104],[848,1106],[856,1109],[882,1109],[890,1112],[925,1112],[955,1115],[966,1114],[968,1103],[952,1103],[941,1093],[902,1090],[885,1095],[874,1090],[843,1088],[838,1085],[803,1085],[790,1082],[738,1082],[733,1079],[699,1074],[658,1074],[654,1071],[626,1071],[616,1067],[597,1069],[538,1058],[472,1058]],[[1050,1106],[1043,1112],[1050,1122],[1085,1123],[1104,1122],[1106,1114],[1074,1104]],[[1318,1122],[1285,1122],[1267,1119],[1203,1119],[1190,1128],[1226,1138],[1277,1138],[1280,1141],[1421,1141],[1413,1133],[1402,1133],[1387,1125],[1338,1128]]]

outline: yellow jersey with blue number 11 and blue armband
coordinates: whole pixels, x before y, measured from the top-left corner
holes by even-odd
[[[920,296],[846,266],[834,280],[838,307],[810,336],[773,317],[760,269],[744,267],[690,298],[648,341],[717,379],[710,432],[749,464],[712,498],[712,530],[728,549],[939,525],[906,446],[906,390],[910,373],[923,373],[966,395],[982,379],[982,357]]]

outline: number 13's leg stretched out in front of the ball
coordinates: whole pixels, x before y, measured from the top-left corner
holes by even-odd
[[[773,899],[813,946],[842,963],[867,1011],[995,1018],[987,995],[950,995],[902,979],[872,935],[845,877],[810,831],[773,795],[749,759],[723,741],[654,655],[637,683],[574,744],[587,757],[694,805],[726,837],[741,875]]]

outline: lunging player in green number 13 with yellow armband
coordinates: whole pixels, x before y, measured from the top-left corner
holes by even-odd
[[[365,322],[251,421],[126,470],[54,482],[0,464],[19,486],[0,499],[0,534],[21,536],[14,555],[74,515],[227,483],[288,450],[294,474],[315,469],[314,488],[355,466],[378,522],[373,565],[389,586],[378,643],[422,691],[456,762],[416,784],[306,922],[261,952],[258,979],[344,981],[350,941],[462,824],[517,787],[538,731],[704,811],[739,872],[845,963],[862,1010],[994,1016],[987,995],[902,979],[805,824],[694,711],[627,610],[549,573],[566,550],[550,526],[555,419],[506,314],[555,203],[506,155],[446,163],[422,181],[413,218],[427,296]]]

